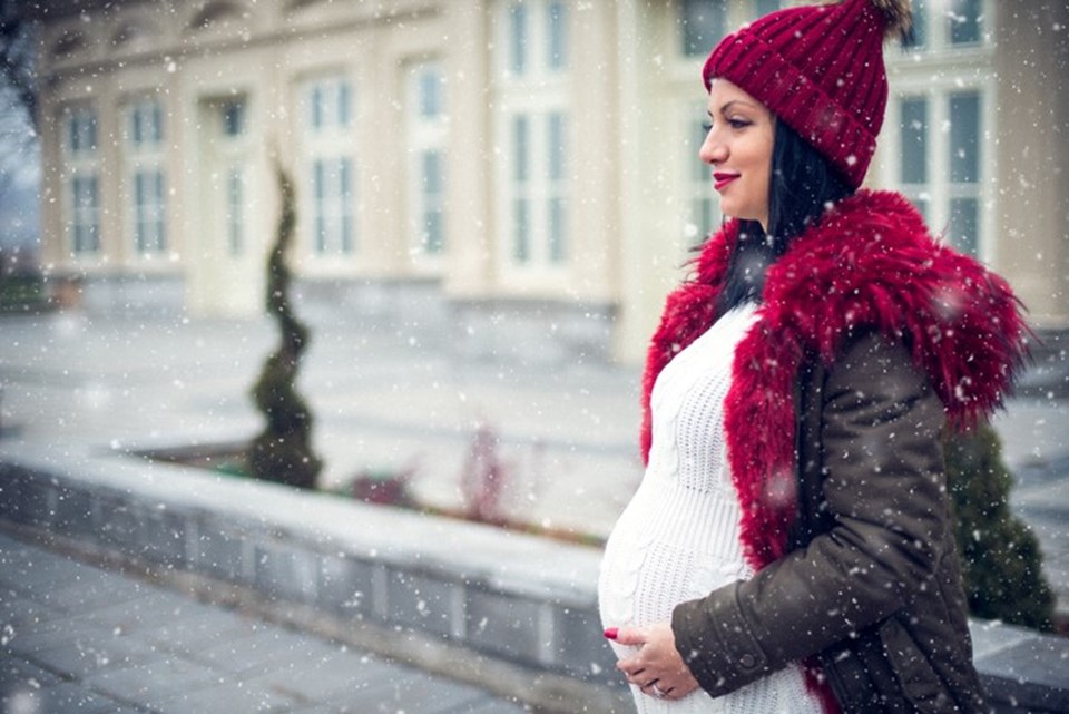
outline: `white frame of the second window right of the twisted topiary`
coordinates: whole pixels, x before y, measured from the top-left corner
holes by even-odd
[[[439,106],[437,111],[426,116],[423,113],[423,81],[428,76],[437,76]],[[447,153],[449,137],[449,95],[445,70],[441,60],[432,59],[415,62],[405,68],[406,117],[408,117],[408,222],[409,252],[416,266],[440,270],[449,252],[449,236],[445,226],[445,186],[449,182],[449,159]],[[428,154],[437,154],[440,162],[440,190],[431,192],[426,186],[424,160]],[[430,213],[439,215],[440,245],[430,245],[425,217]]]

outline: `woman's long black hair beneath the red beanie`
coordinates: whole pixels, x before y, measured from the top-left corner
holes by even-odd
[[[768,266],[787,252],[792,241],[820,221],[831,204],[853,189],[842,174],[783,121],[776,121],[768,182],[768,232],[757,221],[739,221],[738,242],[727,264],[716,301],[723,315],[741,303],[761,300]]]

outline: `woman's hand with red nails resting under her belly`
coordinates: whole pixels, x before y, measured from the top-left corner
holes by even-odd
[[[680,700],[698,688],[698,681],[676,651],[671,625],[660,623],[651,627],[624,627],[616,633],[616,642],[638,647],[630,657],[616,663],[627,681],[641,688],[643,694],[664,700]]]

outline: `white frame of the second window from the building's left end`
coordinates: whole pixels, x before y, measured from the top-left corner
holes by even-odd
[[[125,223],[127,244],[130,254],[137,261],[158,261],[169,256],[167,236],[167,173],[165,157],[166,124],[160,97],[146,95],[130,100],[122,111],[126,131],[122,134],[124,178],[125,178]],[[149,117],[153,127],[150,136],[136,136],[138,117]],[[138,202],[138,185],[143,178],[154,184],[153,199]],[[159,195],[156,193],[158,182]],[[151,226],[148,229],[148,226]],[[141,231],[147,229],[143,235]]]

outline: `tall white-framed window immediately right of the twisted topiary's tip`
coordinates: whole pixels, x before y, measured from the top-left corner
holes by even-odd
[[[318,257],[356,250],[356,159],[352,150],[353,92],[344,75],[314,77],[301,86],[307,159],[310,242]]]

